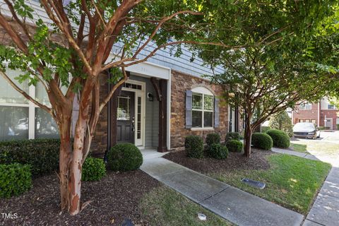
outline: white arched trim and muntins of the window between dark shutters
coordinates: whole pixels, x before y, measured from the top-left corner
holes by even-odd
[[[203,93],[198,93],[196,92],[196,90],[199,90]],[[207,91],[208,92],[207,92]],[[193,107],[193,95],[194,94],[198,94],[198,95],[201,95],[201,98],[202,98],[202,106],[201,106],[201,109],[194,109]],[[213,107],[212,107],[212,110],[206,110],[204,109],[205,107],[205,95],[209,95],[209,96],[212,96],[213,100],[212,100],[212,103],[213,103]],[[214,95],[213,93],[210,92],[210,90],[206,89],[206,88],[203,88],[203,87],[198,87],[198,88],[194,88],[192,89],[192,114],[193,112],[196,111],[196,112],[202,112],[201,114],[201,127],[193,127],[193,124],[192,124],[192,128],[191,130],[213,130],[214,129],[214,126],[213,126],[213,122],[214,122]],[[212,126],[204,126],[203,125],[203,122],[204,122],[204,112],[212,112]],[[192,117],[192,120],[193,120],[193,117]]]

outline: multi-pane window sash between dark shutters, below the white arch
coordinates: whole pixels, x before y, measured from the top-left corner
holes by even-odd
[[[213,95],[193,93],[192,95],[192,127],[213,127]]]

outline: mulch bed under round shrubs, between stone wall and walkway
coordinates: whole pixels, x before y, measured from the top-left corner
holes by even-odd
[[[251,157],[245,157],[242,153],[230,153],[225,160],[216,160],[211,157],[196,159],[186,157],[185,151],[168,153],[164,157],[167,160],[176,162],[189,169],[201,173],[231,171],[236,169],[268,169],[270,164],[266,160],[267,155],[271,155],[270,150],[260,150],[251,148]]]

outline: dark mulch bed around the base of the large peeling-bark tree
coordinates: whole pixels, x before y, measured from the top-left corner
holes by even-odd
[[[27,193],[10,199],[0,198],[0,225],[121,225],[126,218],[136,225],[141,220],[138,208],[141,197],[159,186],[141,170],[107,172],[100,182],[83,182],[81,200],[91,201],[82,212],[70,216],[59,208],[57,174],[34,180]],[[1,213],[17,213],[17,219],[2,218]]]

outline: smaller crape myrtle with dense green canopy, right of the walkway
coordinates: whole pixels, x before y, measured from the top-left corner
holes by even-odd
[[[232,50],[196,47],[206,64],[225,67],[225,73],[208,77],[227,86],[222,100],[244,111],[246,157],[251,156],[251,135],[257,126],[296,102],[319,99],[336,79],[323,65],[338,64],[333,54],[338,42],[319,32],[333,15],[331,4],[334,1],[237,1],[210,6],[218,9],[218,16],[211,18],[218,27],[208,34],[210,40],[246,43]],[[226,29],[230,11],[238,15],[237,37]]]

